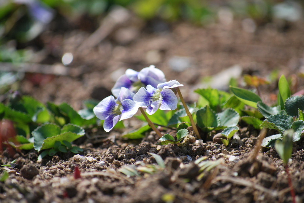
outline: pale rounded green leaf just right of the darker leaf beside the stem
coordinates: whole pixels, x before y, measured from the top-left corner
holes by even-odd
[[[239,123],[240,115],[233,109],[226,109],[223,112],[217,113],[220,120],[220,126],[232,127]]]

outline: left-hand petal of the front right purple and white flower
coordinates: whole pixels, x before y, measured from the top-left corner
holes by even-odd
[[[146,88],[141,87],[138,92],[133,96],[133,101],[140,107],[150,106],[151,103],[155,101],[153,93],[156,89],[152,88],[153,87],[150,87],[149,91],[147,91]]]

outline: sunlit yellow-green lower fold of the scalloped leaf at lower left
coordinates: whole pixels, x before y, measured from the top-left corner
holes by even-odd
[[[59,134],[59,135],[56,135],[53,137],[48,137],[45,140],[43,140],[43,144],[42,144],[42,147],[40,148],[40,150],[52,148],[56,141],[66,140],[68,142],[72,142],[82,136],[83,135],[81,135],[81,134],[66,132],[66,133]]]

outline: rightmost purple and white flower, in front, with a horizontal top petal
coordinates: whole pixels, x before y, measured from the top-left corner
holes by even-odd
[[[155,113],[157,109],[174,110],[177,108],[178,100],[173,90],[179,86],[184,85],[177,80],[160,83],[157,85],[157,89],[152,85],[147,85],[147,89],[141,87],[138,90],[133,96],[133,101],[140,107],[147,107],[146,112],[149,115]]]

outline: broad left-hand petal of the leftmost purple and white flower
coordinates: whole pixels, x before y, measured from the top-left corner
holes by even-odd
[[[100,120],[105,120],[115,110],[118,104],[115,102],[114,96],[105,97],[93,108],[93,112]]]

